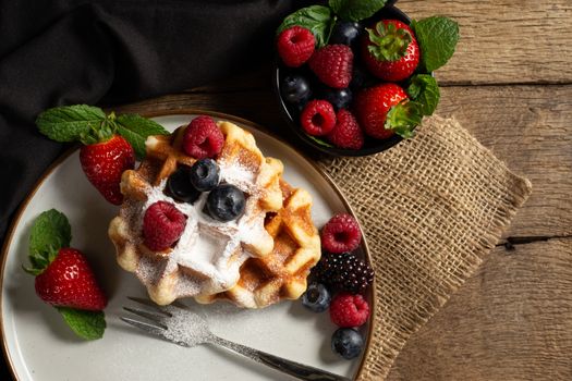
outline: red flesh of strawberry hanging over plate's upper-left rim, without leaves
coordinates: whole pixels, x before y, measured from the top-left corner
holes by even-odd
[[[83,146],[80,162],[87,180],[113,205],[121,205],[121,175],[135,165],[135,152],[120,135],[110,139]]]

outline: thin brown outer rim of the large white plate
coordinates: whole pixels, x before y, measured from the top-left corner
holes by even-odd
[[[316,170],[324,180],[331,186],[333,192],[338,195],[340,200],[342,201],[343,206],[348,210],[348,212],[356,218],[355,211],[353,210],[352,206],[341,192],[341,189],[338,187],[333,179],[330,177],[328,173],[326,173],[321,168],[318,167],[318,164],[311,158],[308,158],[306,155],[299,152],[294,147],[292,147],[289,143],[283,142],[276,135],[271,134],[269,130],[258,123],[252,122],[250,120],[243,119],[241,116],[219,112],[219,111],[210,111],[210,110],[204,110],[198,108],[181,108],[181,109],[169,109],[169,110],[142,110],[137,111],[137,113],[145,118],[161,118],[161,116],[173,116],[173,115],[209,115],[221,120],[228,120],[231,122],[236,122],[239,124],[245,125],[250,128],[256,130],[257,133],[260,133],[263,135],[266,135],[266,137],[270,137],[271,139],[278,140],[281,145],[285,146],[293,155],[297,156],[299,159],[302,159],[306,163],[311,164],[314,170]],[[14,238],[14,233],[16,231],[16,228],[20,225],[20,220],[22,219],[22,216],[24,214],[24,211],[27,209],[29,202],[36,195],[37,190],[40,188],[40,186],[44,184],[44,182],[52,174],[52,172],[61,165],[63,161],[65,161],[70,156],[72,156],[77,149],[80,149],[80,145],[74,145],[70,148],[68,148],[63,153],[61,153],[48,168],[44,171],[44,173],[40,175],[40,177],[36,181],[36,183],[33,185],[32,190],[26,195],[26,197],[22,200],[20,207],[17,208],[14,217],[12,218],[12,221],[10,222],[10,226],[7,230],[7,234],[4,237],[4,242],[2,244],[2,248],[0,250],[0,256],[2,257],[2,263],[0,266],[0,334],[2,335],[2,352],[4,359],[7,360],[8,368],[10,369],[10,372],[12,374],[12,378],[14,380],[20,380],[20,378],[16,374],[14,361],[12,360],[12,357],[10,356],[10,352],[8,348],[8,340],[5,337],[4,332],[4,321],[3,321],[3,285],[4,285],[4,272],[5,272],[5,266],[8,262],[8,250],[12,244],[12,241]],[[356,218],[357,219],[357,218]],[[367,239],[364,234],[363,228],[360,224],[360,231],[362,233],[362,245],[364,248],[364,255],[365,258],[369,263],[372,263],[372,255],[369,253],[369,247],[367,245]],[[369,285],[369,291],[372,293],[372,306],[370,310],[373,312],[376,311],[377,302],[375,298],[375,290],[376,290],[376,280],[374,278],[373,283]],[[355,373],[354,380],[358,380],[365,368],[365,359],[368,357],[368,354],[370,352],[372,347],[372,336],[374,333],[376,322],[373,318],[373,314],[369,317],[369,327],[367,330],[367,337],[366,337],[366,346],[364,348],[362,358],[360,360],[360,365],[357,366],[357,371]]]

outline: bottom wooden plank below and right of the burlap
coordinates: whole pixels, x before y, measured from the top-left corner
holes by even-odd
[[[572,380],[572,238],[499,247],[388,380]]]

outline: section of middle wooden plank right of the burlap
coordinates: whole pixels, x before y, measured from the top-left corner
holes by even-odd
[[[442,93],[437,112],[454,115],[533,183],[506,235],[572,235],[572,86],[468,86]]]

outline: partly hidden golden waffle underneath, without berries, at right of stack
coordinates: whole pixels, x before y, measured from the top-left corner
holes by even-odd
[[[195,297],[199,303],[223,299],[238,306],[260,308],[282,299],[296,299],[306,291],[309,270],[320,259],[320,238],[312,222],[312,196],[280,180],[283,207],[269,213],[265,228],[275,239],[272,253],[248,258],[232,288]]]

